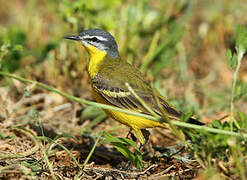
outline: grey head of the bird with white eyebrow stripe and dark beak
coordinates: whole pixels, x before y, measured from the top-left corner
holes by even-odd
[[[78,35],[69,35],[64,38],[81,42],[89,54],[106,51],[107,55],[112,58],[119,57],[117,43],[114,37],[107,31],[88,29]]]

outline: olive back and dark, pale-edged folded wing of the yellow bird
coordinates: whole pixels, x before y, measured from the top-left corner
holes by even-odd
[[[94,90],[109,104],[151,115],[129,91],[126,83],[153,111],[159,115],[162,114],[155,100],[154,89],[143,79],[142,74],[127,62],[118,62],[115,65],[105,64],[92,79]],[[179,118],[181,116],[181,113],[173,108],[164,97],[158,95],[158,99],[169,117]]]

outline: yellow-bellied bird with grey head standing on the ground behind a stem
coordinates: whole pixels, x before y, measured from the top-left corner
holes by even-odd
[[[64,36],[64,38],[80,42],[88,52],[87,72],[92,93],[97,102],[152,115],[144,106],[146,104],[160,116],[164,110],[169,119],[180,120],[183,113],[152,87],[137,68],[121,59],[116,40],[109,32],[102,29],[88,29],[77,35]],[[138,97],[145,104],[141,103]],[[165,122],[110,109],[104,109],[104,111],[111,118],[134,130],[142,145],[146,143],[147,138],[144,132],[147,128],[167,128]],[[189,118],[187,122],[204,125],[203,122],[194,118]]]

